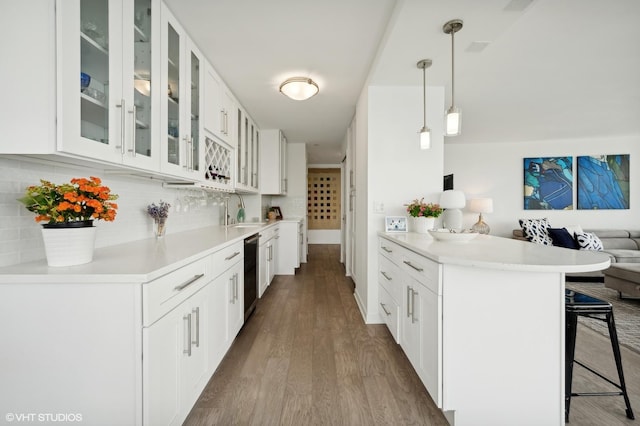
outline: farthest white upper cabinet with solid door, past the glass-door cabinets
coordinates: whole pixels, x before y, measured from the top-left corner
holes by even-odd
[[[260,192],[287,193],[287,138],[281,130],[263,130],[260,140]]]

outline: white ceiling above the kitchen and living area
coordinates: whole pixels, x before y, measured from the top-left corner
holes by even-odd
[[[308,144],[310,163],[337,163],[367,76],[370,84],[451,92],[463,134],[445,143],[640,134],[638,0],[165,0],[263,129]],[[488,42],[469,52],[474,42]],[[278,92],[309,76],[320,93]],[[421,105],[416,105],[421,108]],[[416,123],[416,131],[422,123]]]

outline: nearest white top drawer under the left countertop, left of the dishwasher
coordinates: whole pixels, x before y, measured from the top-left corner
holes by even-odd
[[[148,327],[212,279],[211,256],[203,257],[142,286],[142,320]]]

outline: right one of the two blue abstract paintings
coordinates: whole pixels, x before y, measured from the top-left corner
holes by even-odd
[[[578,209],[628,209],[629,161],[629,154],[578,157]]]

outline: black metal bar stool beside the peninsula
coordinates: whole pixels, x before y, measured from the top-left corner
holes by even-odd
[[[576,351],[576,332],[578,327],[578,316],[587,317],[603,321],[607,323],[609,328],[609,339],[613,349],[613,357],[616,360],[616,368],[618,370],[619,383],[606,378],[591,367],[586,366],[582,362],[574,358]],[[565,341],[565,421],[569,421],[569,409],[571,408],[572,396],[620,396],[624,397],[627,405],[626,414],[630,419],[635,419],[629,395],[627,394],[627,386],[624,382],[624,374],[622,372],[622,358],[620,356],[620,345],[618,343],[618,333],[616,333],[616,323],[613,319],[613,307],[609,302],[605,302],[586,294],[578,293],[572,290],[565,292],[565,317],[566,317],[566,341]],[[619,392],[581,392],[575,393],[571,391],[571,380],[573,379],[573,364],[576,363],[589,370],[596,376],[612,384],[620,389]]]

